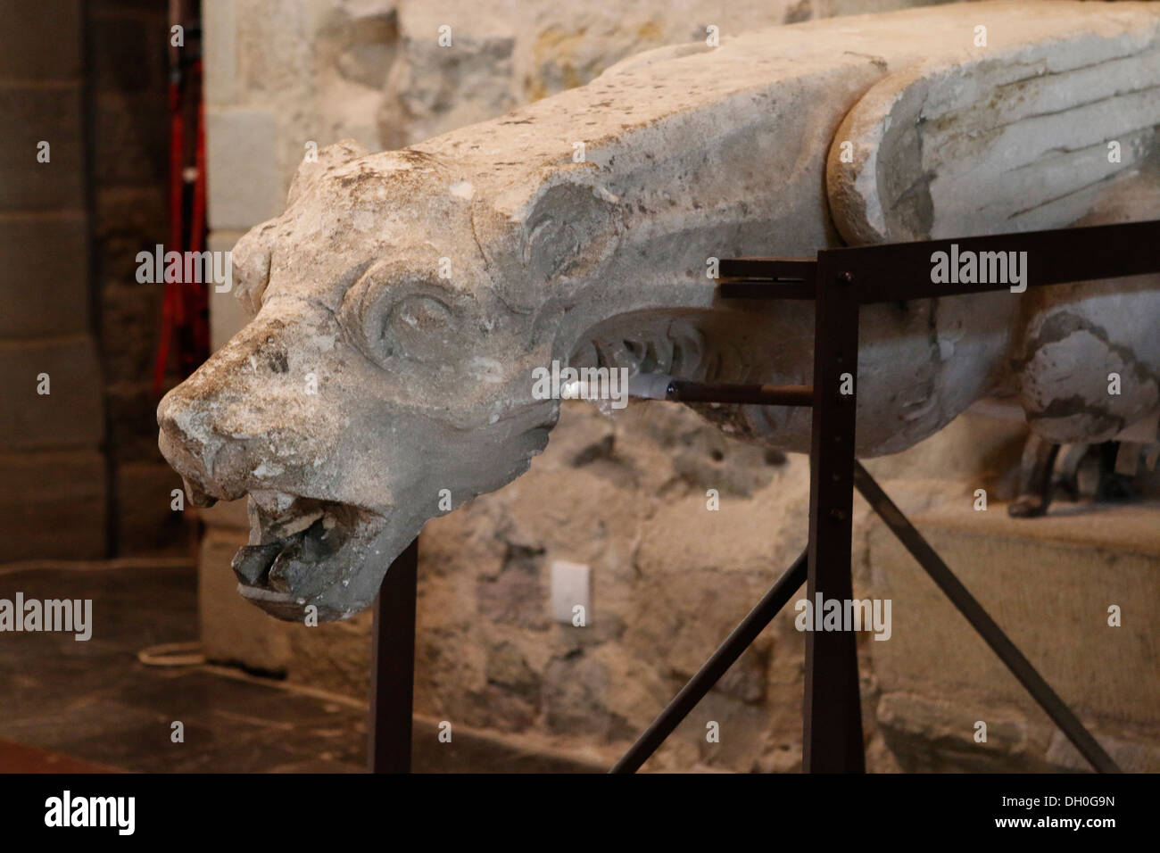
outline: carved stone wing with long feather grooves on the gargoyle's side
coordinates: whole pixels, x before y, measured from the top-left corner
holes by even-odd
[[[1154,145],[1160,62],[1126,38],[1099,53],[1096,67],[1053,42],[1016,57],[911,67],[872,86],[843,120],[826,165],[842,237],[865,244],[1063,227],[1112,203],[1128,191],[1115,179]]]

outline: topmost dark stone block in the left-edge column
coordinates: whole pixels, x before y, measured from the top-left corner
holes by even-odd
[[[0,78],[74,80],[81,68],[80,0],[0,0]]]

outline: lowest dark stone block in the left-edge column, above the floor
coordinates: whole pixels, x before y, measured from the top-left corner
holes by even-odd
[[[107,556],[104,494],[95,450],[0,455],[0,562]]]

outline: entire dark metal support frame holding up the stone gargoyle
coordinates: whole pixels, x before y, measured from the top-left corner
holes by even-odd
[[[931,252],[948,251],[952,243],[958,245],[960,253],[1027,252],[1028,287],[1160,273],[1160,219],[832,248],[818,252],[817,260],[722,260],[718,291],[724,298],[814,301],[813,385],[673,382],[667,397],[684,403],[812,407],[810,543],[612,767],[612,773],[639,769],[803,583],[810,600],[815,600],[819,592],[826,599],[853,598],[850,552],[855,489],[1080,753],[1097,771],[1118,771],[1079,718],[855,460],[858,309],[872,303],[1009,288],[1007,283],[930,282]],[[843,377],[843,374],[849,376]],[[842,392],[843,378],[846,390],[853,392]],[[412,543],[392,564],[376,605],[370,749],[374,771],[409,769],[416,555],[416,544]],[[400,600],[396,600],[397,595]],[[803,769],[807,773],[865,769],[855,641],[853,631],[806,634]],[[384,650],[391,653],[382,653]]]

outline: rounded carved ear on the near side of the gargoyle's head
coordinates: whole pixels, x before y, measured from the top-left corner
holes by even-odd
[[[476,212],[491,238],[480,240],[484,255],[515,304],[538,303],[544,284],[597,275],[621,238],[617,197],[571,172],[549,173],[487,208]]]

